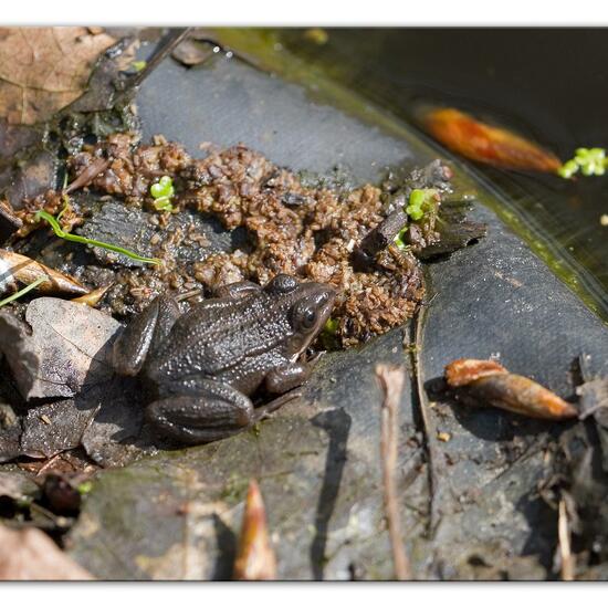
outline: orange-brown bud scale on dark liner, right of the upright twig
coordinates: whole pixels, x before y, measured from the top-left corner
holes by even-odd
[[[530,418],[562,420],[578,416],[578,410],[555,392],[525,376],[509,373],[496,361],[457,359],[445,367],[445,380],[452,388],[464,388],[480,403]]]

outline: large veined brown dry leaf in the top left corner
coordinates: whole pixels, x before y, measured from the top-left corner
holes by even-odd
[[[86,88],[97,56],[115,43],[86,28],[0,28],[0,117],[49,119]]]

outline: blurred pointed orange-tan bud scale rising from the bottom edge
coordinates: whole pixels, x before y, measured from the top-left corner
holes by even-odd
[[[276,578],[276,560],[270,544],[266,512],[255,480],[249,482],[233,578],[235,580]]]

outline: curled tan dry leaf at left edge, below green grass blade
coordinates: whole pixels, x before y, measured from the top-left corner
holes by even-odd
[[[36,287],[39,292],[69,295],[88,294],[88,290],[75,279],[50,269],[27,255],[0,249],[0,289],[10,285],[13,280],[29,285],[41,277],[46,281]]]

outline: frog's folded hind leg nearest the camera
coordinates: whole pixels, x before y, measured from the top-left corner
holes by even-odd
[[[256,420],[251,399],[227,384],[190,377],[167,389],[172,395],[151,402],[146,418],[159,434],[180,442],[223,439]]]

